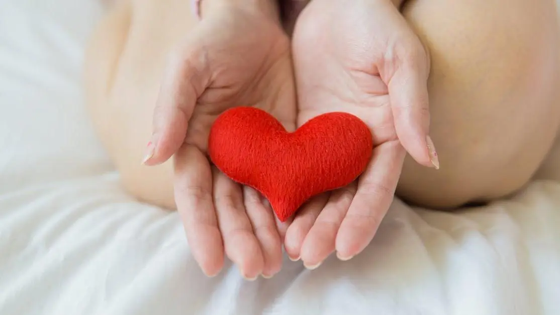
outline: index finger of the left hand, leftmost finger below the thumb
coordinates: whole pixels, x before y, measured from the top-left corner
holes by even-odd
[[[175,203],[186,238],[204,273],[214,276],[223,267],[223,244],[212,202],[212,173],[197,148],[183,145],[175,157]]]

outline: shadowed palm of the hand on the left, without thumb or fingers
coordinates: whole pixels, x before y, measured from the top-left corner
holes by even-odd
[[[232,14],[236,13],[215,17],[220,23],[203,21],[197,36],[210,77],[189,121],[185,142],[202,151],[206,151],[213,121],[232,107],[256,106],[276,116],[287,128],[295,124],[290,41],[267,18],[240,18],[240,13],[229,17]]]

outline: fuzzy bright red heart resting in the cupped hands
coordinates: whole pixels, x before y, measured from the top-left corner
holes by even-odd
[[[351,114],[323,114],[288,133],[276,118],[254,107],[223,112],[208,143],[216,167],[260,191],[282,222],[312,196],[356,180],[372,150],[370,129]]]

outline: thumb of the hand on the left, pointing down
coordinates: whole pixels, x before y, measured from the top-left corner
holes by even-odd
[[[197,99],[209,84],[210,73],[202,48],[184,45],[169,59],[156,107],[153,111],[152,139],[143,163],[167,161],[185,141]]]

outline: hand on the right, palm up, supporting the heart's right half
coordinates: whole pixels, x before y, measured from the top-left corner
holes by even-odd
[[[430,60],[391,0],[313,0],[293,34],[298,125],[325,112],[362,119],[374,138],[353,184],[296,214],[284,247],[314,269],[336,251],[349,260],[370,243],[393,201],[405,155],[438,168],[428,137]]]

